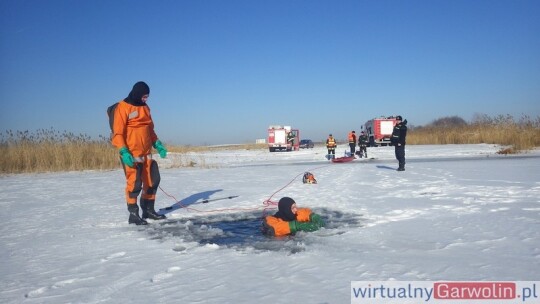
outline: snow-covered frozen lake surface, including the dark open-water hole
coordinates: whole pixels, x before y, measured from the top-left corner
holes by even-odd
[[[156,206],[187,208],[147,227],[127,224],[120,168],[4,175],[0,303],[349,303],[351,281],[538,280],[540,151],[499,149],[408,146],[405,172],[392,147],[344,164],[324,147],[169,154]],[[262,236],[282,196],[327,228]]]

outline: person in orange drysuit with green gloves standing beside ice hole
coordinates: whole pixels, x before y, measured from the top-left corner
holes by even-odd
[[[126,175],[128,223],[136,225],[147,225],[146,218],[165,218],[154,210],[160,174],[157,162],[152,159],[152,147],[161,158],[167,156],[167,149],[154,132],[154,122],[146,104],[149,95],[150,87],[142,81],[137,82],[128,97],[118,103],[113,114],[111,142],[119,149]],[[142,217],[137,206],[141,190]]]

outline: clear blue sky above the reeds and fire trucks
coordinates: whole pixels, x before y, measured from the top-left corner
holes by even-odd
[[[0,1],[0,130],[108,136],[147,82],[158,136],[345,138],[373,117],[540,115],[540,1]]]

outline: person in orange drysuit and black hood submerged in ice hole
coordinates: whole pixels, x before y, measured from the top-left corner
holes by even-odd
[[[263,220],[263,232],[271,236],[295,234],[297,231],[316,231],[324,227],[321,216],[309,208],[297,208],[290,197],[283,197],[278,203],[278,212]]]

